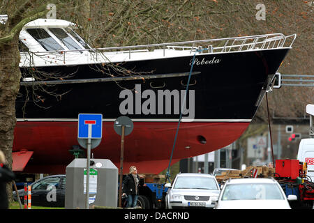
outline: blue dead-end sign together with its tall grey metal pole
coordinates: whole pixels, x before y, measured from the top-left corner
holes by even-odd
[[[96,139],[95,144],[98,146],[102,136],[103,114],[79,114],[77,141],[83,148],[87,148],[86,209],[89,209],[89,171],[91,167],[92,139]],[[87,141],[87,144],[84,144],[84,141]],[[94,148],[96,146],[94,145]]]

